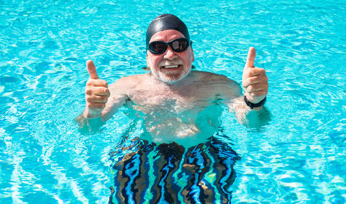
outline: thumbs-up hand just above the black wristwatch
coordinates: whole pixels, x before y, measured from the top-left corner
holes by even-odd
[[[244,95],[249,102],[256,104],[268,93],[268,77],[264,68],[255,67],[255,48],[248,49],[248,57],[243,71]]]

